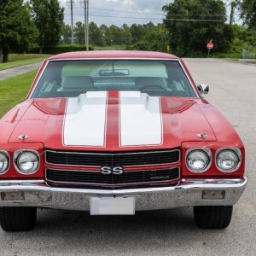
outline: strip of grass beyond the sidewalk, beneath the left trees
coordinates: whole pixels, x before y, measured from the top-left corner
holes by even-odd
[[[0,63],[0,70],[8,69],[11,67],[20,67],[32,63],[36,63],[39,61],[43,61],[45,58],[49,57],[49,55],[9,55],[9,62]]]

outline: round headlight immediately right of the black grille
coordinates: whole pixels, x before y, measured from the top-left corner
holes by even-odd
[[[209,150],[194,149],[187,155],[187,166],[191,172],[206,172],[211,163],[212,155]]]

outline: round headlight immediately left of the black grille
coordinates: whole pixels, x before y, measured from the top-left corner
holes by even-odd
[[[23,151],[18,154],[16,166],[22,174],[32,174],[38,171],[39,158],[38,154],[32,151]]]

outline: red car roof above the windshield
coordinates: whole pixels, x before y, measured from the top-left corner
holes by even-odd
[[[67,60],[67,59],[168,59],[177,60],[175,55],[169,55],[155,51],[137,51],[137,50],[98,50],[98,51],[75,51],[67,52],[49,57],[49,60]]]

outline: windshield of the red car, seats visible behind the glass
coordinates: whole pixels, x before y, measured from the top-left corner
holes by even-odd
[[[178,61],[49,61],[32,98],[74,97],[86,91],[141,91],[196,97]]]

